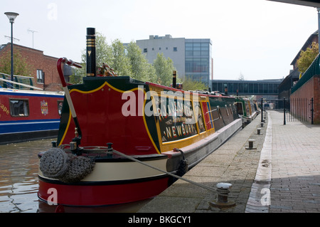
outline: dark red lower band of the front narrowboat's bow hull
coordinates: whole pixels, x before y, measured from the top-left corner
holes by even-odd
[[[169,177],[159,179],[146,179],[122,184],[110,182],[87,182],[80,185],[55,184],[40,178],[39,199],[50,204],[54,202],[53,194],[48,194],[50,189],[57,190],[57,204],[68,206],[105,206],[124,204],[133,201],[149,199],[164,191],[168,186]],[[63,193],[59,193],[63,191]],[[50,197],[51,196],[51,197]]]

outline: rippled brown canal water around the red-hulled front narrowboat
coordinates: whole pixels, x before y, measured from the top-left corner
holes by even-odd
[[[149,200],[131,204],[102,207],[70,207],[62,209],[39,201],[38,153],[52,147],[54,139],[0,145],[0,213],[51,213],[65,211],[73,213],[134,213]]]

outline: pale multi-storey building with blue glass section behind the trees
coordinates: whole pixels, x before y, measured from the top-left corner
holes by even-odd
[[[149,39],[137,40],[149,63],[154,63],[158,53],[171,58],[179,78],[185,76],[209,84],[213,79],[212,41],[210,38],[172,38],[149,36]]]

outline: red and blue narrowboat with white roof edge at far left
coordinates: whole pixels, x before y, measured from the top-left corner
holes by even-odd
[[[57,137],[63,92],[43,91],[4,78],[0,82],[0,144]],[[7,84],[14,86],[5,88]]]

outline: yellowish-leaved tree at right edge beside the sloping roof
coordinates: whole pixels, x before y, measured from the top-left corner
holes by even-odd
[[[301,73],[304,73],[311,63],[314,61],[314,58],[319,54],[319,44],[313,42],[311,48],[306,48],[306,51],[301,51],[299,59],[297,60],[298,68]]]

